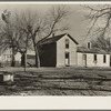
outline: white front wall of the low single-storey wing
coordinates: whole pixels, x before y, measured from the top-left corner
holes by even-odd
[[[78,67],[83,67],[83,54],[87,54],[87,67],[110,67],[110,54],[105,54],[105,63],[103,63],[104,54],[97,54],[97,63],[94,63],[93,53],[80,52],[78,52]]]

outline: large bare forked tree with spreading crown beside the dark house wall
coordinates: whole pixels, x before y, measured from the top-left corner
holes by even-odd
[[[47,14],[40,14],[39,12],[22,12],[21,14],[21,29],[31,38],[33,49],[36,52],[36,67],[40,67],[39,59],[39,46],[49,38],[54,31],[60,30],[58,26],[69,14],[69,9],[65,6],[54,6]],[[62,27],[63,29],[63,27]],[[63,30],[65,30],[64,28]]]

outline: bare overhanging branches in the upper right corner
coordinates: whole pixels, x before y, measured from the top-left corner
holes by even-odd
[[[88,36],[92,33],[93,37],[108,38],[111,36],[111,4],[85,6],[90,11],[85,16],[90,21]]]

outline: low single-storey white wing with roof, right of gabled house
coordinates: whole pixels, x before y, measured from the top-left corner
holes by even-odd
[[[77,50],[79,67],[110,67],[110,53],[98,48],[83,48]]]

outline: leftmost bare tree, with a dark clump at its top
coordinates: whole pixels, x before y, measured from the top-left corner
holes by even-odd
[[[16,65],[16,60],[14,60],[14,56],[16,56],[16,42],[14,42],[14,38],[17,33],[16,29],[12,26],[12,22],[10,20],[10,14],[11,12],[8,10],[4,10],[2,13],[2,20],[6,22],[6,27],[3,28],[3,31],[1,32],[3,34],[3,42],[1,40],[2,46],[6,46],[4,48],[9,47],[12,48],[12,61],[11,61],[11,65],[14,67]]]

